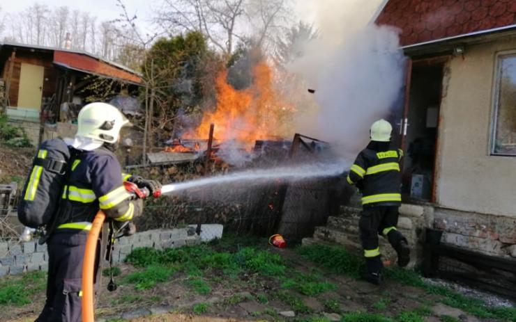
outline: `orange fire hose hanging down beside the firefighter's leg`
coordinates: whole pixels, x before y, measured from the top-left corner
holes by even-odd
[[[95,275],[98,236],[105,218],[106,215],[102,211],[98,211],[86,240],[86,250],[82,263],[82,322],[95,322],[93,277]]]

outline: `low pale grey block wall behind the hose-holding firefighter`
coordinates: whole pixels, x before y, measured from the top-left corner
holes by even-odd
[[[204,226],[204,225],[203,225]],[[114,246],[113,261],[120,263],[133,249],[151,247],[155,249],[177,248],[183,245],[195,245],[201,237],[188,230],[188,227],[173,230],[148,230],[123,237]],[[27,271],[47,271],[47,245],[38,245],[37,241],[19,243],[0,242],[0,276],[14,275]]]

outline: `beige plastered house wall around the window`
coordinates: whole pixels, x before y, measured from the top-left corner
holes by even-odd
[[[496,53],[516,38],[465,48],[443,79],[437,202],[446,208],[516,218],[516,157],[490,156]]]

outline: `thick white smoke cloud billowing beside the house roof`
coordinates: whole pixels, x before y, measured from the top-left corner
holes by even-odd
[[[303,0],[298,13],[308,14],[319,38],[304,45],[305,54],[289,65],[316,90],[319,108],[303,113],[298,131],[328,140],[351,163],[369,140],[370,124],[386,117],[399,103],[404,56],[397,31],[369,24],[378,0]],[[311,21],[308,21],[311,22]],[[307,95],[307,102],[310,97]]]

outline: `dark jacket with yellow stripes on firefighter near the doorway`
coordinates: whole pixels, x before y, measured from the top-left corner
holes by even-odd
[[[400,160],[403,152],[388,142],[371,141],[356,157],[347,182],[362,193],[363,207],[400,206]]]

